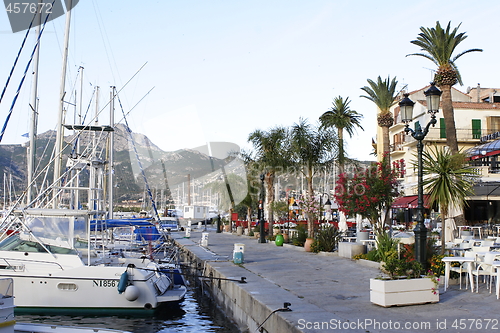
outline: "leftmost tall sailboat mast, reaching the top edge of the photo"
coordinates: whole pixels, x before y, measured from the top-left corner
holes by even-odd
[[[42,3],[42,0],[38,0],[38,3]],[[37,11],[36,17],[36,27],[35,27],[35,39],[38,39],[40,34],[40,27],[42,24],[42,15]],[[36,134],[37,134],[37,122],[38,122],[38,63],[40,58],[40,40],[38,40],[38,47],[35,50],[33,56],[33,83],[31,91],[31,118],[30,118],[30,131],[29,138],[30,143],[28,147],[28,188],[26,190],[26,205],[28,205],[33,198],[33,175],[35,173],[35,152],[36,152]]]

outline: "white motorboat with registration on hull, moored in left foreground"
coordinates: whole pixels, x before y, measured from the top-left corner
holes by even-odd
[[[0,277],[14,280],[18,310],[150,311],[184,298],[186,287],[174,285],[154,262],[85,265],[77,248],[87,216],[69,209],[27,209],[19,216],[22,228],[0,242]]]

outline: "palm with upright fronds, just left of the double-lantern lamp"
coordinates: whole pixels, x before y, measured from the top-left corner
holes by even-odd
[[[385,156],[389,154],[389,127],[394,124],[394,118],[390,112],[391,107],[396,104],[396,86],[398,81],[396,77],[392,80],[388,76],[387,79],[382,81],[380,76],[377,78],[377,82],[374,82],[370,79],[367,79],[368,84],[370,86],[364,86],[361,88],[366,95],[361,95],[360,97],[364,97],[377,106],[379,109],[379,114],[377,116],[377,123],[382,128],[382,154],[377,154],[379,156]]]

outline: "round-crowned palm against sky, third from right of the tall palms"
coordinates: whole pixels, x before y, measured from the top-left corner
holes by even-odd
[[[344,130],[352,138],[354,130],[356,127],[361,128],[361,118],[363,116],[357,111],[351,110],[349,104],[351,101],[349,97],[343,99],[342,96],[335,97],[333,99],[330,111],[326,111],[319,117],[321,122],[320,129],[334,127],[337,130],[338,135],[338,165],[339,174],[344,173],[344,163],[345,163],[345,153],[344,153]]]

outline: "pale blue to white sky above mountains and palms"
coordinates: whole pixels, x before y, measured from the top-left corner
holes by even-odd
[[[99,122],[109,124],[109,87],[116,86],[121,107],[115,107],[115,121],[123,123],[125,113],[132,131],[163,150],[216,141],[248,150],[251,132],[289,127],[301,118],[317,124],[333,98],[342,96],[363,115],[364,128],[347,140],[346,152],[373,160],[377,109],[360,97],[367,79],[396,77],[398,89],[407,85],[409,91],[426,86],[436,67],[423,57],[406,57],[420,52],[410,41],[422,26],[451,21],[468,36],[457,51],[484,50],[458,59],[464,85],[456,88],[499,87],[499,12],[497,0],[480,5],[462,0],[80,0],[71,12],[65,122],[73,122],[80,95],[87,119],[94,116],[96,106],[89,104],[99,86]],[[57,122],[64,25],[64,16],[52,20],[41,39],[39,133],[55,129]],[[6,12],[0,11],[1,89],[25,33],[12,33]],[[0,104],[2,124],[34,45],[30,35]],[[1,143],[26,140],[31,89],[28,71]]]

